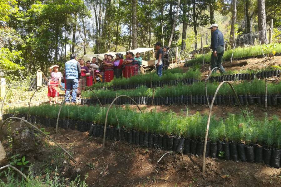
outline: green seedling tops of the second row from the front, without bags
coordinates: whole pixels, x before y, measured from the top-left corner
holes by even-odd
[[[208,95],[214,95],[219,83],[207,83]],[[238,95],[258,95],[265,94],[265,82],[264,80],[253,80],[252,82],[242,81],[241,83],[234,82],[232,84],[236,93]],[[234,96],[234,93],[230,89],[229,85],[224,84],[219,89],[219,95],[228,95],[228,90],[230,95]],[[281,83],[268,83],[268,94],[280,93]],[[137,89],[131,90],[95,90],[98,98],[115,98],[116,95],[127,95],[130,97],[151,97],[153,94],[153,89],[141,86]],[[82,92],[83,98],[95,98],[91,91]],[[175,97],[181,95],[205,95],[205,83],[198,82],[192,85],[177,85],[164,88],[155,89],[155,97]]]

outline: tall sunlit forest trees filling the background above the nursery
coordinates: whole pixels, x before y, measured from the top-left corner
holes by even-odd
[[[232,41],[237,32],[266,32],[270,19],[279,26],[279,4],[280,0],[1,0],[0,45],[5,49],[0,60],[5,57],[0,68],[18,70],[19,65],[34,74],[55,63],[63,66],[70,53],[125,51],[152,47],[156,41],[197,50],[199,37],[204,35],[209,44],[206,25],[214,22],[223,23],[219,28],[226,38],[231,30]],[[229,17],[234,18],[232,24]]]

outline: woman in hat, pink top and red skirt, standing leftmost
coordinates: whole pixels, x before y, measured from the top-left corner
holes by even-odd
[[[61,86],[62,73],[58,71],[58,68],[58,65],[53,65],[49,68],[51,74],[51,79],[48,83],[48,98],[50,104],[52,104],[51,97],[55,98],[54,103],[56,104],[59,96],[58,86]]]

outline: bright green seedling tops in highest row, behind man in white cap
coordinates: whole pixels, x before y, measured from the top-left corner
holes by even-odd
[[[265,45],[262,45],[263,48],[266,48]],[[275,46],[275,51],[276,53],[280,53],[281,52],[281,44],[276,43]],[[205,63],[206,62],[211,62],[211,53],[209,52],[207,54],[205,54]],[[264,54],[266,55],[266,50],[264,50]],[[262,50],[260,48],[260,46],[250,46],[250,47],[237,47],[234,49],[234,53],[233,53],[233,59],[237,59],[237,58],[243,58],[243,57],[256,57],[258,55],[262,55]],[[229,61],[231,59],[231,55],[232,55],[232,50],[227,50],[224,51],[224,56],[223,56],[223,60],[224,61]],[[200,63],[203,64],[203,55],[202,54],[198,54],[195,55],[195,58],[192,60],[189,60],[187,63],[188,64],[195,64],[195,63]]]

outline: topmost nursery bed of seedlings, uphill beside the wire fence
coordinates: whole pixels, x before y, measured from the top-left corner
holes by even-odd
[[[266,48],[266,46],[263,45],[263,48]],[[275,50],[274,56],[280,56],[281,55],[281,44],[277,43],[274,50]],[[264,50],[264,55],[269,56],[270,53],[272,53],[272,51],[273,50]],[[223,60],[229,61],[231,59],[231,55],[232,55],[232,50],[224,51]],[[260,46],[250,46],[250,47],[243,47],[243,48],[238,47],[238,48],[234,49],[233,60],[246,60],[246,59],[256,58],[256,57],[262,58],[262,57],[264,57],[264,55],[263,55],[263,52],[262,52],[262,49]],[[210,64],[211,52],[209,52],[208,54],[205,54],[205,55],[202,55],[202,54],[195,55],[195,58],[187,61],[185,66],[203,64],[203,60],[204,60],[205,64]]]

